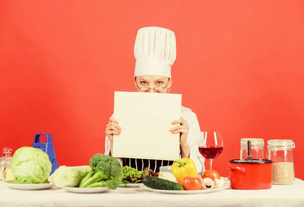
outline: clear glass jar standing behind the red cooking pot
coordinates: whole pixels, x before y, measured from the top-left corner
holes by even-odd
[[[264,140],[258,138],[242,138],[240,159],[247,159],[247,142],[251,142],[251,158],[264,159]]]

